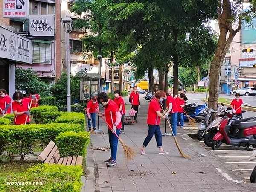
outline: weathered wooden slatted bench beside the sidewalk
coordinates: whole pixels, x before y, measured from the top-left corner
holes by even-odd
[[[55,145],[53,141],[46,146],[44,151],[38,156],[38,159],[43,161],[44,163],[49,164],[60,164],[60,165],[81,165],[83,161],[82,156],[78,157],[64,157],[60,158],[61,155],[59,153],[58,147]]]

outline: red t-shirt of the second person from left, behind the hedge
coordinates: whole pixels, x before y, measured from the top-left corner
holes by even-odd
[[[13,101],[12,102],[12,110],[17,111],[17,112],[29,111],[30,102],[31,102],[31,99],[29,99],[29,98],[23,98],[20,103]],[[26,116],[27,116],[26,114],[22,114],[20,116],[15,116],[13,124],[14,125],[25,124]],[[29,116],[28,116],[26,123],[28,123],[28,122],[30,122]]]

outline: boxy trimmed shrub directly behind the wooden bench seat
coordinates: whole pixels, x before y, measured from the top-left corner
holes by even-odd
[[[67,131],[60,133],[56,137],[55,143],[58,146],[61,157],[84,156],[86,147],[90,143],[90,133]]]

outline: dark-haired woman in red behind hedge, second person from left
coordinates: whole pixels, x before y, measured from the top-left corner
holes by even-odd
[[[29,124],[30,122],[30,107],[31,103],[36,103],[35,100],[29,98],[23,98],[23,94],[20,91],[16,91],[12,99],[12,110],[14,114],[14,125],[22,125],[22,124]]]

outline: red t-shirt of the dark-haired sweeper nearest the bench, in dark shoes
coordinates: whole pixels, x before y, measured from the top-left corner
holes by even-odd
[[[114,126],[114,123],[116,122],[116,113],[119,112],[119,108],[115,102],[113,102],[111,99],[108,102],[108,104],[105,106],[105,116],[106,120],[108,122],[108,125],[112,126],[109,127],[108,129],[112,129]],[[117,129],[120,129],[122,127],[121,121],[119,124],[116,126]]]

